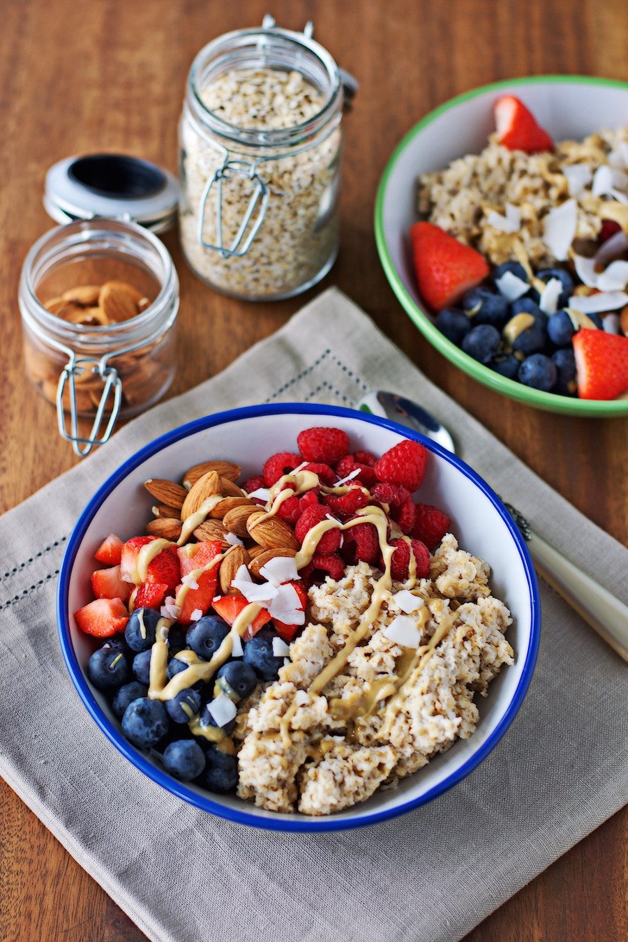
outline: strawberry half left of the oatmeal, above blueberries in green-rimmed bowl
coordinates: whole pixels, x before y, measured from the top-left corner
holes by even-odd
[[[431,222],[415,222],[410,237],[419,291],[433,311],[456,304],[489,274],[484,255]]]

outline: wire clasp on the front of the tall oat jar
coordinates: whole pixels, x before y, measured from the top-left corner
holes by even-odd
[[[268,189],[266,182],[257,172],[258,162],[249,163],[247,160],[226,160],[222,167],[219,167],[214,173],[214,176],[207,181],[201,197],[201,211],[199,213],[199,242],[203,249],[211,249],[213,252],[220,252],[223,258],[241,258],[242,255],[245,255],[250,249],[250,243],[253,241],[255,236],[260,230],[260,226],[264,222],[266,216],[266,209],[268,206],[268,200],[270,198],[270,190]],[[250,195],[249,205],[245,212],[244,218],[240,223],[240,228],[238,229],[231,246],[228,248],[224,245],[222,238],[222,181],[229,180],[232,175],[239,175],[246,177],[254,183],[253,192]],[[217,232],[217,245],[214,245],[212,242],[205,241],[203,236],[203,228],[205,221],[205,210],[207,206],[207,198],[211,192],[212,187],[216,185],[217,187],[217,206],[216,206],[216,232]],[[259,203],[259,210],[257,217],[250,227],[249,235],[246,236],[247,229],[249,228],[251,219],[253,219],[253,214],[256,211],[256,208]]]

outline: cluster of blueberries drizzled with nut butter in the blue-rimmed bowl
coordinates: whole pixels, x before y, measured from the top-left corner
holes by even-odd
[[[161,755],[170,775],[193,780],[209,791],[232,791],[237,784],[236,758],[222,752],[210,739],[194,737],[187,724],[198,715],[201,726],[216,726],[209,707],[218,692],[226,693],[237,704],[250,696],[260,680],[277,680],[283,659],[273,653],[276,634],[268,627],[262,628],[243,644],[243,658],[230,658],[209,683],[200,681],[162,703],[148,696],[151,648],[158,621],[154,609],[134,611],[124,637],[107,639],[89,658],[89,679],[110,698],[126,739],[138,749],[153,749]],[[199,658],[210,660],[230,630],[215,614],[203,616],[187,631],[172,625],[169,680],[188,667],[177,654],[188,648]],[[221,727],[225,736],[233,733],[234,726],[231,720]]]

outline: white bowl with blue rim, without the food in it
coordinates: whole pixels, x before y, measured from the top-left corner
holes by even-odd
[[[93,597],[90,577],[94,553],[104,537],[114,532],[125,540],[144,532],[150,513],[143,487],[147,479],[179,480],[186,468],[210,457],[238,463],[243,478],[248,478],[259,474],[269,454],[294,451],[298,433],[313,426],[343,430],[353,449],[368,449],[376,455],[409,438],[427,448],[420,499],[446,509],[451,532],[460,546],[490,564],[494,595],[512,615],[507,640],[513,650],[512,663],[491,682],[488,695],[476,698],[479,721],[468,739],[458,739],[423,769],[401,779],[396,788],[378,789],[362,804],[323,817],[270,811],[234,794],[208,792],[171,777],[153,752],[135,748],[122,735],[105,695],[89,679],[86,668],[95,639],[79,630],[73,615]],[[92,496],[73,529],[59,575],[57,620],[63,656],[87,712],[124,759],[155,786],[237,823],[285,832],[318,832],[361,827],[410,811],[455,786],[489,755],[512,723],[529,686],[539,646],[540,609],[537,579],[523,537],[499,497],[469,465],[422,436],[377,416],[331,406],[282,404],[197,419],[162,435],[123,463]]]

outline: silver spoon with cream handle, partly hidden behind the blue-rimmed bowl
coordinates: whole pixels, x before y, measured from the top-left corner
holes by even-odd
[[[358,408],[362,412],[388,418],[398,425],[418,431],[448,451],[456,453],[449,431],[438,419],[411,399],[378,391],[364,396],[358,403]],[[554,546],[539,537],[516,508],[507,503],[504,506],[522,531],[539,575],[549,582],[621,658],[628,661],[628,606],[587,573],[578,569]]]

